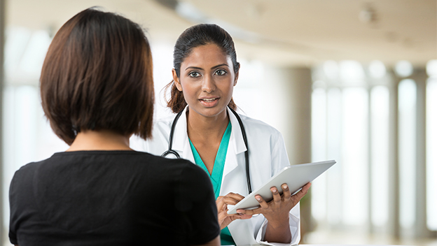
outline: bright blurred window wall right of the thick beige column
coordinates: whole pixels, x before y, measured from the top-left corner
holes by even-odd
[[[417,81],[426,76],[426,108],[418,108]],[[381,61],[326,61],[314,68],[313,79],[312,158],[338,160],[337,169],[312,186],[312,215],[318,229],[361,230],[374,236],[390,231],[394,238],[401,235],[401,240],[437,231],[437,155],[433,151],[437,146],[437,61],[429,61],[427,75],[415,71],[408,61],[399,61],[393,72]],[[426,164],[419,164],[425,152],[417,151],[421,141],[417,124],[425,121]],[[398,129],[395,135],[391,129]],[[390,165],[393,161],[397,168]],[[426,166],[423,184],[417,180],[419,165]],[[398,189],[398,198],[392,196],[390,183]],[[417,195],[420,189],[426,189],[426,199]],[[424,203],[426,212],[419,209]],[[396,206],[397,226],[396,218],[390,216]],[[425,231],[419,231],[422,222],[417,216],[426,218]],[[310,234],[312,242],[317,243],[317,236],[321,236],[317,231]]]

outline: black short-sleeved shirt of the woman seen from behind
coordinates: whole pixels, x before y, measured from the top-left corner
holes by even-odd
[[[188,245],[220,233],[207,174],[135,151],[60,152],[15,172],[11,243]]]

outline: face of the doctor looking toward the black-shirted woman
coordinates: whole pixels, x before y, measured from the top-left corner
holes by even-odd
[[[189,114],[216,117],[226,115],[238,73],[219,46],[207,44],[193,48],[181,63],[180,78],[174,70],[173,78],[190,107]]]

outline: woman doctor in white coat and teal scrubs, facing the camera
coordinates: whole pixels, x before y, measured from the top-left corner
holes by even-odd
[[[273,201],[256,196],[260,208],[238,210],[237,215],[227,213],[227,205],[235,205],[249,194],[244,154],[247,149],[250,185],[254,190],[289,165],[279,131],[240,115],[243,131],[238,115],[230,110],[237,108],[232,96],[239,69],[233,40],[225,30],[215,24],[186,29],[174,46],[173,81],[167,85],[171,89],[167,106],[174,113],[182,113],[176,121],[169,117],[155,122],[153,139],[145,143],[145,150],[159,155],[167,152],[174,122],[172,152],[210,175],[222,245],[298,244],[298,202],[310,184],[293,196],[286,184],[282,184],[282,195],[272,187]]]

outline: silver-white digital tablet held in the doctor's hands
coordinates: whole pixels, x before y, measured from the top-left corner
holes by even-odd
[[[291,195],[296,194],[302,187],[308,182],[312,182],[315,178],[319,177],[328,168],[333,166],[335,161],[319,161],[308,164],[298,164],[292,166],[286,166],[282,171],[277,173],[263,184],[262,187],[256,189],[251,194],[246,196],[237,205],[228,205],[228,215],[236,214],[237,209],[254,209],[259,207],[258,201],[255,196],[261,195],[265,201],[271,201],[272,191],[271,187],[277,187],[280,194],[282,194],[281,185],[286,183],[289,186]]]

